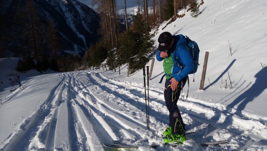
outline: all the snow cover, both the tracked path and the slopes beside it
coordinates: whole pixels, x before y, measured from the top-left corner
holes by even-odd
[[[102,66],[64,73],[31,70],[22,76],[23,88],[10,93],[6,75],[15,69],[18,58],[1,58],[0,150],[110,150],[102,144],[111,140],[144,145],[132,150],[267,150],[266,2],[206,0],[200,10],[197,18],[181,10],[179,14],[186,14],[183,18],[162,30],[166,21],[152,32],[156,45],[164,31],[187,35],[198,43],[195,82],[189,75],[189,97],[185,99],[186,85],[177,105],[187,130],[203,123],[212,126],[189,134],[180,146],[148,146],[162,142],[169,122],[164,84],[158,83],[162,62],[157,60],[149,81],[148,131],[142,70],[128,78],[127,65],[121,66],[120,75],[118,68],[115,73],[103,71]],[[205,51],[208,68],[204,90],[199,90]],[[225,90],[228,72],[234,89]],[[199,142],[220,140],[228,143],[199,146]]]

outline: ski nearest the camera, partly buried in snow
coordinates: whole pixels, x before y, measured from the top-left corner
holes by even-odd
[[[201,146],[210,146],[210,145],[220,145],[220,144],[225,144],[228,143],[227,140],[223,141],[215,141],[215,142],[202,142],[199,143]],[[106,147],[111,147],[111,148],[139,148],[140,146],[146,146],[146,145],[130,145],[130,144],[109,144],[109,143],[103,143],[104,146]],[[161,144],[161,145],[149,145],[150,147],[157,148],[159,146],[179,146],[181,144]]]

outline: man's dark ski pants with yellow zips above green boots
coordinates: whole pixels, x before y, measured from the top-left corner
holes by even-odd
[[[184,128],[184,122],[181,116],[181,113],[177,107],[177,101],[180,97],[180,93],[182,88],[184,87],[186,80],[187,80],[187,76],[185,78],[183,78],[181,81],[179,81],[179,86],[177,87],[176,90],[172,90],[171,89],[171,82],[170,79],[166,79],[165,82],[165,89],[164,89],[164,99],[165,99],[165,103],[166,103],[166,107],[169,110],[170,114],[169,114],[169,118],[170,118],[170,123],[169,125],[171,126],[171,133],[174,134],[175,132],[177,132],[177,128],[175,130],[175,125],[179,125],[179,121],[181,122],[181,125]],[[178,121],[177,121],[178,120]],[[185,129],[184,129],[185,130]]]

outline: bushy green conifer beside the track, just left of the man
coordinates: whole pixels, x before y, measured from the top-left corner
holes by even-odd
[[[139,11],[134,20],[130,30],[122,34],[117,53],[114,54],[117,55],[117,62],[130,62],[130,73],[142,68],[149,61],[147,55],[155,49],[155,41],[151,39],[154,35],[150,34],[146,20]]]

